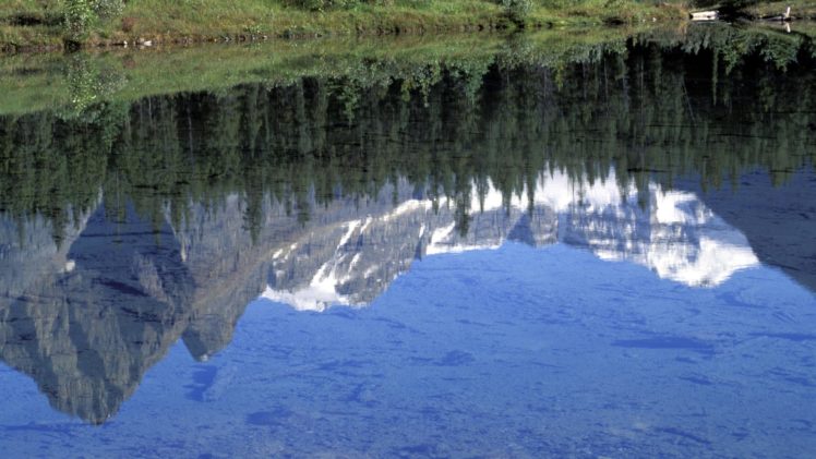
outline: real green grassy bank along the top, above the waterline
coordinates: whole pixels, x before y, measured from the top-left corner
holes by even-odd
[[[635,24],[685,16],[683,3],[635,0],[529,0],[523,2],[527,8],[520,12],[496,0],[346,0],[345,7],[317,10],[293,4],[304,3],[299,0],[129,0],[123,10],[106,17],[95,14],[82,23],[81,31],[72,31],[67,21],[69,1],[3,1],[0,48]]]

